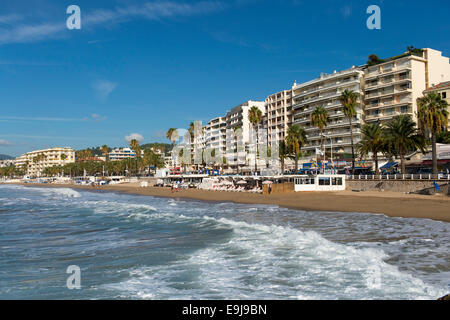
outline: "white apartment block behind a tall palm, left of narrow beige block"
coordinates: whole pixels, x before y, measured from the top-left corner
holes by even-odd
[[[225,117],[226,159],[228,167],[232,170],[251,171],[255,163],[254,146],[251,143],[253,142],[253,137],[251,137],[252,124],[248,119],[248,112],[253,106],[257,107],[265,115],[265,102],[250,100],[227,112]],[[235,132],[238,129],[242,132],[241,142],[235,137]],[[260,132],[260,134],[262,133]],[[242,143],[243,150],[240,150],[239,143]]]

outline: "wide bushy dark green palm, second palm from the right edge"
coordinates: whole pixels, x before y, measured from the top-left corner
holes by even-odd
[[[399,115],[386,123],[384,136],[387,151],[400,157],[402,174],[405,174],[406,154],[417,149],[424,151],[424,139],[416,123],[409,114]]]

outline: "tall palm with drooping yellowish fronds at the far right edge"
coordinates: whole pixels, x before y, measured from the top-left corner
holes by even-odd
[[[447,128],[448,103],[437,92],[431,92],[417,99],[417,117],[422,128],[431,133],[431,148],[433,155],[433,175],[437,176],[436,137]]]

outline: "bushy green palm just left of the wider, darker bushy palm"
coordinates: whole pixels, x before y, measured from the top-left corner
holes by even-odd
[[[369,153],[373,155],[375,162],[375,174],[378,173],[378,153],[384,150],[383,129],[379,123],[369,123],[362,127],[362,139],[356,144],[356,149],[361,156]]]

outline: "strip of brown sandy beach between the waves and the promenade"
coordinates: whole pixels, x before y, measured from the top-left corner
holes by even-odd
[[[173,199],[191,199],[207,202],[232,202],[255,205],[277,205],[282,208],[304,211],[360,212],[384,214],[389,217],[424,218],[450,222],[450,197],[424,196],[397,192],[308,192],[262,195],[198,189],[171,192],[169,188],[146,187],[139,183],[113,186],[80,186],[14,183],[26,187],[72,188],[88,191],[110,191],[141,196]]]

